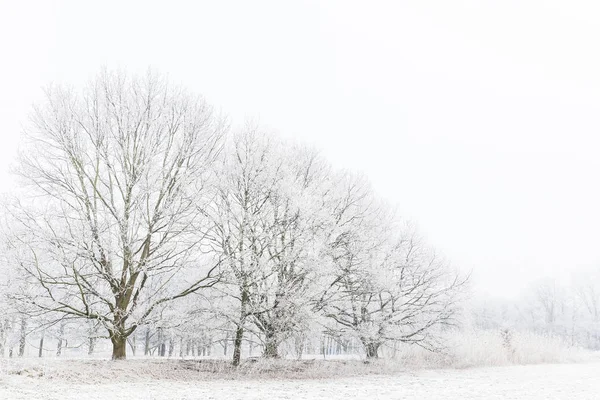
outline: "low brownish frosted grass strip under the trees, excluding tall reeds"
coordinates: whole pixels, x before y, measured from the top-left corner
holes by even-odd
[[[393,360],[245,360],[234,367],[228,360],[125,361],[23,359],[1,360],[0,376],[51,379],[78,384],[151,380],[198,381],[214,379],[321,379],[394,374],[406,368]]]

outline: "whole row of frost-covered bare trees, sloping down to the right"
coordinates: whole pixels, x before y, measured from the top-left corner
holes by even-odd
[[[249,336],[277,357],[318,326],[377,357],[390,341],[434,348],[454,322],[466,278],[365,178],[254,126],[230,134],[154,74],[46,94],[5,202],[6,321],[105,331],[113,359],[144,326],[210,327],[234,364]]]

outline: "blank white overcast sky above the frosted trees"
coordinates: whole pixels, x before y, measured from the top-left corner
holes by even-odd
[[[152,66],[366,173],[480,293],[600,265],[595,1],[0,0],[0,188],[40,88]]]

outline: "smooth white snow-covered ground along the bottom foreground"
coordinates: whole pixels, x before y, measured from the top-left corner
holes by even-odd
[[[463,370],[336,379],[179,381],[159,377],[93,384],[0,374],[0,399],[565,399],[600,398],[600,363]]]

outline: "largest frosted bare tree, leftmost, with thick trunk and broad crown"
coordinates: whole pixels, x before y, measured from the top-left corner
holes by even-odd
[[[31,301],[98,321],[124,359],[157,308],[212,286],[218,260],[201,251],[195,207],[224,130],[203,99],[152,73],[48,89],[11,209],[20,264],[44,290]]]

